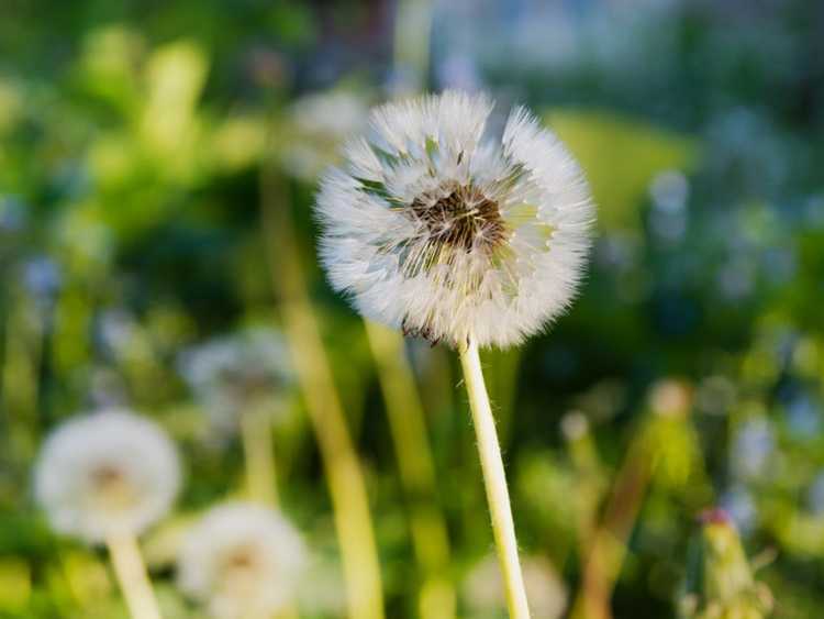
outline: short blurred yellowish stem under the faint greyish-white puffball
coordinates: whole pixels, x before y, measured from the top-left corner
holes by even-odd
[[[256,502],[278,507],[280,500],[269,417],[261,411],[242,413],[241,438],[246,460],[246,491],[249,498]]]

